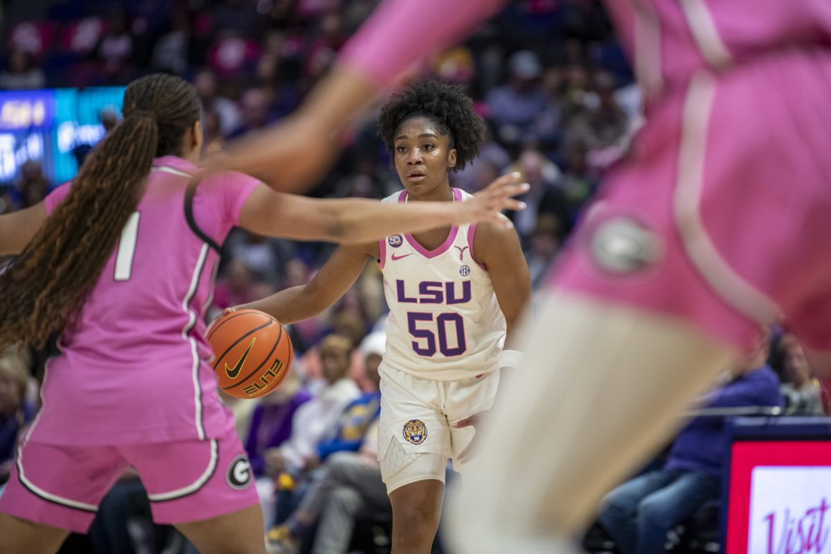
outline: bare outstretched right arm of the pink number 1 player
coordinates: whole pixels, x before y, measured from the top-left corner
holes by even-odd
[[[381,203],[366,199],[308,199],[258,186],[243,204],[239,224],[262,235],[361,244],[396,233],[418,233],[446,225],[503,223],[503,209],[524,209],[512,197],[528,189],[519,174],[496,179],[466,202]]]

